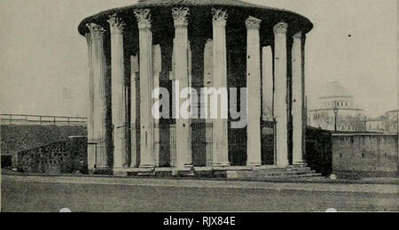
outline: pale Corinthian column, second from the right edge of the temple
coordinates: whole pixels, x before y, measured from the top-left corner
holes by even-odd
[[[275,117],[276,117],[276,151],[277,165],[288,165],[288,103],[287,103],[287,63],[286,63],[286,31],[288,25],[284,22],[274,27],[274,74]]]

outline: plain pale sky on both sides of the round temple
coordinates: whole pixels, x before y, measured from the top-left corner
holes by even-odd
[[[396,0],[246,0],[313,21],[306,47],[309,103],[339,80],[376,116],[397,100]],[[0,112],[86,116],[87,46],[79,22],[135,0],[1,0]]]

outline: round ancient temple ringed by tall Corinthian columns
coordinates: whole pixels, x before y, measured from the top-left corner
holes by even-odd
[[[297,13],[239,0],[141,0],[83,19],[90,172],[303,164],[312,27]],[[159,95],[170,104],[155,110],[162,117],[153,116]],[[187,100],[184,117],[176,107]]]

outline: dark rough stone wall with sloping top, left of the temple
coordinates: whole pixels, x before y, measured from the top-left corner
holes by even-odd
[[[87,138],[70,137],[14,156],[14,166],[23,173],[87,173]]]

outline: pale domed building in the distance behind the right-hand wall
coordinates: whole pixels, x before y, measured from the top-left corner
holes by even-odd
[[[339,81],[325,86],[318,97],[316,109],[308,113],[309,126],[334,131],[336,123],[340,132],[364,131],[364,111],[356,106],[354,96]]]

